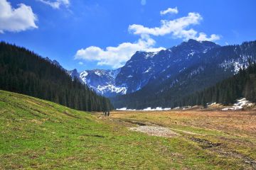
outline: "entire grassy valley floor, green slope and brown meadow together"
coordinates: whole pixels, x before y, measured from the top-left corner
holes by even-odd
[[[256,112],[105,117],[0,91],[0,169],[256,169]]]

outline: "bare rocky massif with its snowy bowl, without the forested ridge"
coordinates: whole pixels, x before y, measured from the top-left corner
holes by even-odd
[[[198,62],[198,53],[218,47],[214,42],[188,40],[160,52],[136,52],[124,67],[116,70],[94,69],[78,73],[74,69],[68,71],[68,74],[104,96],[130,94],[163,73],[166,79],[174,76],[181,69]]]

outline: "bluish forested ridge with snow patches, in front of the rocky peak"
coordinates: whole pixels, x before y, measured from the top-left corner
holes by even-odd
[[[146,108],[146,107],[172,107],[177,104],[176,98],[186,96],[213,86],[218,81],[238,73],[240,68],[246,68],[248,61],[256,60],[256,41],[243,42],[241,45],[228,45],[213,48],[201,53],[201,59],[176,74],[170,79],[152,79],[140,91],[126,96],[112,98],[116,108]],[[174,103],[173,103],[174,102]]]

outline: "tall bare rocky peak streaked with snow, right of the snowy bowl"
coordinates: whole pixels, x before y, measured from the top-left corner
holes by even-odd
[[[214,42],[188,40],[160,52],[136,52],[117,75],[117,86],[127,87],[127,93],[138,91],[150,79],[166,72],[166,79],[199,61],[201,53],[218,48]]]

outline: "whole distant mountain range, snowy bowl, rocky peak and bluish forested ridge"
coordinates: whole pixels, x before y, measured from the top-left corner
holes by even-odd
[[[112,97],[116,108],[172,107],[180,102],[177,98],[237,74],[248,60],[255,60],[255,54],[255,41],[222,47],[188,40],[159,52],[135,52],[117,70],[69,74],[97,94]]]

